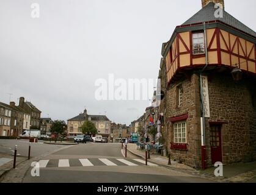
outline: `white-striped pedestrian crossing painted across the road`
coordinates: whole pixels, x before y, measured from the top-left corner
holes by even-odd
[[[39,160],[40,168],[59,167],[67,168],[72,166],[144,166],[145,161],[141,159],[123,158],[79,158],[79,159],[45,159]],[[158,166],[147,162],[148,166]]]

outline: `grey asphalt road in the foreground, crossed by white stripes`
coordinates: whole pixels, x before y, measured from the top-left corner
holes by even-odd
[[[62,149],[40,161],[40,176],[31,176],[30,168],[23,182],[70,183],[170,183],[210,182],[163,166],[145,166],[138,157],[123,157],[120,144],[86,143]]]

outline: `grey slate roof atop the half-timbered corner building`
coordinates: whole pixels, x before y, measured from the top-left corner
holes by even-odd
[[[223,12],[223,18],[215,18],[214,12],[216,11],[216,9],[214,8],[214,5],[215,5],[214,2],[210,2],[208,5],[203,7],[199,12],[197,12],[194,16],[189,18],[182,25],[219,20],[219,21],[222,21],[223,23],[226,23],[226,24],[229,24],[230,26],[235,27],[236,29],[243,30],[247,34],[250,34],[256,37],[256,33],[254,30],[250,29],[249,27],[241,23],[238,19],[234,18],[232,15],[225,12],[225,10]]]

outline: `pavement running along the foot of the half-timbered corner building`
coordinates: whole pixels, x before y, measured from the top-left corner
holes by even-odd
[[[127,151],[131,154],[136,155],[145,159],[145,150],[138,150],[136,144],[127,144]],[[168,165],[169,159],[163,157],[160,154],[150,152],[149,162],[156,163],[166,168],[174,169],[175,171],[185,172],[193,176],[199,176],[206,179],[214,180],[215,182],[252,182],[256,181],[256,162],[252,163],[239,163],[236,165],[224,165],[223,174],[224,177],[215,177],[215,167],[210,167],[205,170],[198,171],[189,166],[183,165],[171,159],[171,165]]]

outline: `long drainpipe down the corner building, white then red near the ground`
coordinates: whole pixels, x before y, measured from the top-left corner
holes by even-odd
[[[207,166],[207,154],[206,154],[206,146],[205,146],[205,109],[203,107],[203,82],[202,82],[202,73],[208,66],[208,49],[207,49],[207,30],[205,27],[205,22],[203,23],[203,30],[205,34],[205,66],[200,71],[200,104],[201,104],[201,146],[202,146],[202,168],[205,169]]]

